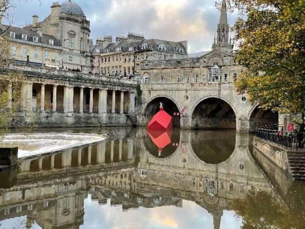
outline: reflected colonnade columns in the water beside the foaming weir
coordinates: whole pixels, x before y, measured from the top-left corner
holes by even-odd
[[[118,139],[118,152],[114,151],[114,145],[117,144],[114,143],[115,140],[111,140],[108,142],[110,144],[110,163],[114,162],[113,156],[114,154],[118,153],[118,162],[122,161],[122,153],[123,153],[123,139]],[[107,142],[101,142],[96,145],[97,150],[96,150],[96,158],[93,158],[93,151],[92,151],[92,145],[87,146],[87,160],[82,161],[82,154],[83,154],[83,149],[85,147],[81,147],[77,150],[77,166],[82,166],[82,164],[86,165],[91,165],[92,160],[96,161],[96,164],[105,164],[106,163],[106,143]],[[128,155],[127,159],[130,160],[133,158],[133,140],[128,140]],[[72,164],[72,152],[73,149],[66,150],[62,153],[59,154],[53,154],[51,156],[44,156],[39,159],[35,160],[25,160],[22,162],[22,164],[19,166],[19,172],[29,172],[31,168],[31,164],[35,162],[36,164],[38,163],[38,170],[42,171],[43,170],[43,161],[48,160],[47,164],[49,164],[49,169],[54,169],[55,168],[55,157],[58,157],[61,155],[61,168],[68,168],[71,167]],[[73,157],[76,157],[76,154],[74,154]],[[74,158],[76,160],[76,158]],[[95,163],[94,163],[95,164]],[[57,164],[57,167],[59,165]]]

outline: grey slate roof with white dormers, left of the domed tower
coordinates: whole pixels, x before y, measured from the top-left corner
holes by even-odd
[[[10,32],[15,33],[14,39],[17,39],[17,40],[34,42],[34,37],[37,37],[38,40],[35,43],[49,45],[49,40],[53,40],[53,46],[61,46],[60,40],[57,40],[52,35],[43,34],[42,36],[40,36],[38,34],[38,32],[36,32],[36,31],[32,31],[32,30],[25,29],[25,28],[18,28],[18,27],[14,27],[14,26],[4,25],[4,24],[0,24],[0,30],[2,30],[8,34],[10,34]],[[26,35],[26,39],[24,39],[24,38],[22,39],[22,34]]]

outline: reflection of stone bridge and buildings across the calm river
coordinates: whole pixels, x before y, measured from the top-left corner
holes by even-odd
[[[219,228],[233,200],[259,191],[277,195],[251,156],[249,135],[174,130],[159,156],[146,129],[108,131],[117,137],[20,161],[18,173],[1,182],[0,223],[26,215],[26,227],[36,222],[43,228],[78,228],[84,224],[84,200],[90,193],[101,207],[110,201],[110,206],[139,214],[140,206],[183,208],[183,200],[192,201]]]

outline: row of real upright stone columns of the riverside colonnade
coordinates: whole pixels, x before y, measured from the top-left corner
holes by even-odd
[[[36,84],[36,83],[35,83]],[[45,101],[46,101],[46,96],[45,96],[45,86],[46,84],[39,84],[39,91],[37,93],[40,94],[40,108],[39,111],[44,112],[45,111]],[[73,87],[73,86],[62,86],[62,85],[52,85],[53,89],[52,89],[52,105],[51,105],[51,112],[64,112],[64,113],[74,113],[74,112],[78,112],[78,113],[84,113],[84,112],[88,112],[88,113],[99,113],[99,114],[105,114],[105,113],[109,113],[109,110],[107,109],[107,97],[108,97],[108,91],[110,91],[110,96],[111,98],[111,104],[110,104],[110,113],[114,114],[116,113],[116,92],[119,90],[109,90],[109,89],[105,89],[105,88],[88,88],[89,89],[89,104],[88,104],[88,110],[84,109],[84,90],[85,87],[81,86],[81,87]],[[62,94],[62,89],[60,91],[61,94],[59,94],[58,91],[58,87],[63,87],[63,94]],[[37,88],[37,87],[36,87]],[[75,90],[76,88],[79,88],[79,95],[75,94]],[[93,110],[93,90],[94,89],[98,89],[98,101],[97,101],[97,105],[98,105],[98,109],[96,111]],[[78,90],[77,90],[78,91]],[[8,85],[8,94],[9,94],[9,99],[8,99],[8,103],[7,103],[7,108],[11,109],[12,108],[12,84]],[[124,92],[128,92],[128,96],[129,98],[125,99],[129,102],[129,104],[125,107],[128,107],[128,112],[133,112],[134,111],[134,106],[135,106],[135,94],[134,92],[129,92],[129,91],[119,91],[120,92],[120,100],[117,101],[117,103],[120,104],[119,106],[119,111],[117,113],[119,114],[123,114],[124,113],[124,96],[127,95],[127,93]],[[22,84],[22,96],[21,96],[21,102],[22,102],[22,110],[26,110],[26,111],[33,111],[33,83],[23,83]],[[59,98],[60,101],[59,101]],[[49,100],[51,100],[48,97]],[[58,109],[58,102],[60,102],[60,104],[62,104],[62,110]],[[87,102],[87,100],[86,100]],[[75,106],[77,107],[77,109],[75,108]],[[96,106],[96,105],[95,105]]]

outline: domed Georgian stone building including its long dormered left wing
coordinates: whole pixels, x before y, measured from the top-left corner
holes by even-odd
[[[88,73],[90,22],[82,8],[71,0],[62,4],[56,1],[48,17],[41,22],[38,18],[33,15],[32,24],[8,29],[17,63],[26,61],[29,56],[29,62],[39,63],[35,65],[40,67],[79,68]],[[2,30],[5,28],[7,26],[2,25]]]

